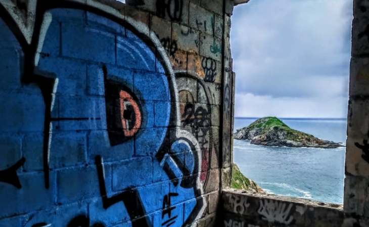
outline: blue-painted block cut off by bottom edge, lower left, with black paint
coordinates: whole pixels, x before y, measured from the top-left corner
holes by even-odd
[[[86,203],[74,203],[64,206],[57,206],[54,207],[54,209],[47,209],[29,213],[23,218],[22,226],[33,227],[39,226],[36,224],[45,223],[51,224],[51,226],[53,227],[65,227],[68,224],[71,224],[71,222],[73,222],[73,219],[77,219],[77,217],[80,215],[87,217],[87,213],[88,212]],[[81,221],[79,223],[82,224]]]

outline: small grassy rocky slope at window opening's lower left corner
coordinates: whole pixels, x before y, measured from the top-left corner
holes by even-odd
[[[233,163],[232,168],[232,188],[266,194],[253,180],[242,174],[236,163]]]

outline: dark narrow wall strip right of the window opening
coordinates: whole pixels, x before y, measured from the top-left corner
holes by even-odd
[[[369,225],[369,1],[353,1],[344,211],[347,226]]]

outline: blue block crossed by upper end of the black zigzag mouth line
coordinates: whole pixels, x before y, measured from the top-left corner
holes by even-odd
[[[110,190],[111,171],[104,165],[107,191]],[[100,197],[98,171],[95,165],[58,171],[58,203],[71,203]]]

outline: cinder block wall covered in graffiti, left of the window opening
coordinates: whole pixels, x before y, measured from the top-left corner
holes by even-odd
[[[0,0],[0,226],[215,226],[230,1]]]

